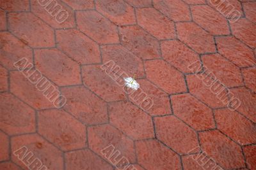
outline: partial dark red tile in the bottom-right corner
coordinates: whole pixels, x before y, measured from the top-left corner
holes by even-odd
[[[248,168],[255,170],[255,164],[256,164],[256,146],[252,145],[252,146],[246,146],[244,147],[244,155],[246,157],[246,162],[248,163]]]

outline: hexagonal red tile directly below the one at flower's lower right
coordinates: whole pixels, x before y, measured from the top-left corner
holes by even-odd
[[[156,117],[154,120],[157,139],[176,152],[186,154],[198,147],[196,132],[176,117]],[[199,152],[199,150],[195,150],[195,152]]]

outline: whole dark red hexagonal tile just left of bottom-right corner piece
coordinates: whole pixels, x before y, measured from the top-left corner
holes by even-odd
[[[219,131],[201,132],[201,146],[209,157],[225,169],[244,167],[241,147]],[[232,155],[232,157],[230,157]]]

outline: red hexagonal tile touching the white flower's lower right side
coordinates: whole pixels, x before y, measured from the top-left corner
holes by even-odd
[[[140,89],[132,92],[131,94],[127,91],[132,103],[136,104],[142,110],[147,111],[147,113],[152,116],[171,113],[168,94],[160,90],[156,85],[152,84],[148,80],[136,81],[140,84]]]

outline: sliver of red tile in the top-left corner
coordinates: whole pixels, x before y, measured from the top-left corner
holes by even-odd
[[[7,11],[29,11],[29,0],[0,0],[0,7]]]

